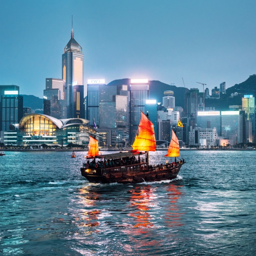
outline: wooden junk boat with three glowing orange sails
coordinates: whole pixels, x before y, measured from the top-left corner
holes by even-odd
[[[130,152],[99,155],[98,141],[90,136],[87,162],[81,174],[91,183],[141,183],[175,179],[180,167],[185,163],[180,156],[179,141],[172,130],[172,140],[165,157],[175,157],[175,162],[149,165],[149,151],[155,151],[156,139],[154,125],[148,115],[141,112],[141,121]]]

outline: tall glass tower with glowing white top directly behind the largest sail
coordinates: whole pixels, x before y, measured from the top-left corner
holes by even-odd
[[[141,111],[145,112],[146,100],[149,99],[148,79],[131,79],[130,95],[130,143],[132,144],[141,120]]]

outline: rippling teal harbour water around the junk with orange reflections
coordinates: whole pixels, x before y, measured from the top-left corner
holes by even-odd
[[[176,180],[127,185],[87,182],[85,152],[6,154],[2,255],[255,255],[256,152],[182,151]]]

